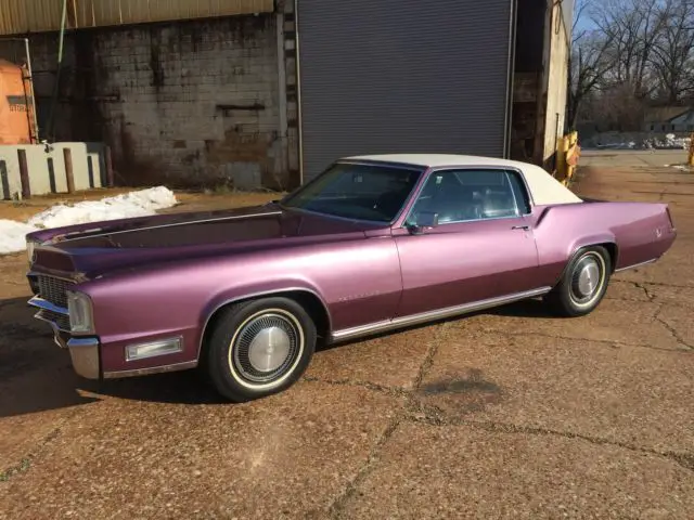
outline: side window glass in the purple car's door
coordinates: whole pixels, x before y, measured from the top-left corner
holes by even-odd
[[[440,223],[519,217],[529,211],[523,181],[503,170],[435,171],[427,179],[408,222],[422,212]]]

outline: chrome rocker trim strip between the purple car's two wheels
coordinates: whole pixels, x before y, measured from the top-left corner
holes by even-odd
[[[513,295],[501,296],[498,298],[490,298],[487,300],[474,301],[472,303],[465,303],[464,306],[448,307],[446,309],[438,309],[436,311],[423,312],[420,314],[412,314],[410,316],[396,317],[385,322],[370,323],[368,325],[361,325],[359,327],[347,328],[344,330],[335,330],[331,335],[332,341],[342,341],[345,339],[359,338],[369,336],[375,333],[383,333],[393,330],[396,328],[408,327],[411,325],[420,325],[435,320],[441,320],[445,317],[451,317],[459,314],[467,314],[471,312],[483,311],[493,307],[512,303],[518,300],[525,300],[534,298],[536,296],[547,295],[552,287],[540,287],[539,289],[527,290],[525,292],[516,292]]]

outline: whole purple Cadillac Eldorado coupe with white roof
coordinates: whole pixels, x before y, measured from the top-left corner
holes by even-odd
[[[240,402],[292,386],[319,340],[540,296],[587,314],[674,238],[666,204],[582,200],[532,165],[380,155],[266,206],[31,233],[27,276],[80,376],[197,366]]]

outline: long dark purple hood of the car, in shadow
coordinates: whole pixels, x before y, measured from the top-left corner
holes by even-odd
[[[234,255],[389,233],[387,224],[286,210],[270,204],[156,214],[41,230],[33,270],[92,278],[140,265]]]

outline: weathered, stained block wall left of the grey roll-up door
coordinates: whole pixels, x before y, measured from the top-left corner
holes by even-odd
[[[30,38],[43,127],[56,40]],[[279,48],[273,14],[72,32],[55,138],[105,141],[128,184],[286,187]]]

